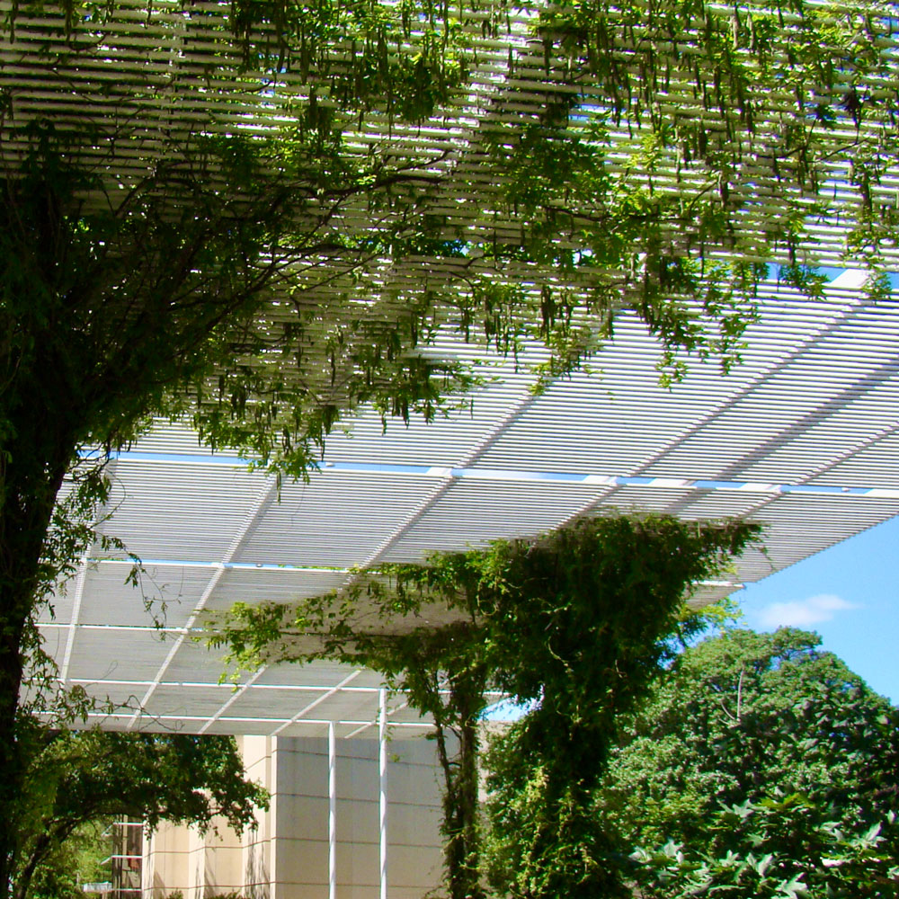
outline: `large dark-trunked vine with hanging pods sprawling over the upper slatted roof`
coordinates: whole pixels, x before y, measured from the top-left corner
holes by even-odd
[[[35,610],[97,552],[102,462],[152,416],[298,476],[340,414],[431,416],[470,383],[415,350],[444,325],[505,352],[543,341],[553,377],[629,307],[676,377],[680,349],[733,360],[770,260],[814,293],[803,266],[828,223],[865,264],[892,252],[899,76],[880,4],[532,12],[5,13],[20,75],[0,92],[0,866]],[[510,85],[495,103],[494,65]],[[415,129],[470,95],[488,109],[456,165],[456,138],[432,150]]]

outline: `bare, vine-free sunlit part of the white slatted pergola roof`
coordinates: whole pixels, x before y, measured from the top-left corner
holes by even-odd
[[[160,424],[113,465],[105,525],[140,556],[85,564],[42,630],[67,683],[129,703],[107,726],[204,733],[374,735],[376,675],[338,665],[272,666],[218,683],[218,655],[191,640],[204,612],[297,601],[347,569],[420,560],[428,550],[549,530],[616,510],[765,526],[732,592],[899,513],[899,301],[871,306],[848,271],[811,303],[767,285],[743,364],[696,364],[670,392],[633,318],[593,374],[530,392],[533,375],[494,360],[469,410],[431,424],[361,414],[334,435],[309,482],[281,485],[209,455],[185,427]],[[442,352],[470,353],[458,344]],[[522,360],[527,361],[527,360]],[[165,603],[156,629],[143,598]],[[156,606],[157,610],[160,606]],[[135,709],[140,709],[135,710]],[[393,703],[396,735],[422,722]]]

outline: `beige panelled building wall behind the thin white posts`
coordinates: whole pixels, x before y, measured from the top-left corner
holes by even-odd
[[[243,737],[248,775],[271,791],[243,838],[201,837],[166,825],[147,844],[144,885],[154,899],[240,892],[248,899],[327,899],[328,744],[318,737]],[[337,899],[378,899],[378,741],[336,743]],[[441,880],[440,789],[433,743],[387,745],[387,895],[421,899]]]

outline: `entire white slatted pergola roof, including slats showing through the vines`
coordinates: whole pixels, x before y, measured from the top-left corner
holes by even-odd
[[[834,6],[832,21],[852,20],[850,6]],[[815,20],[829,14],[824,4],[809,7]],[[374,254],[360,265],[325,254],[287,266],[282,283],[300,300],[285,302],[286,294],[273,290],[257,325],[261,333],[281,333],[307,314],[310,392],[321,388],[328,399],[322,347],[335,316],[377,326],[408,307],[425,280],[451,292],[493,279],[520,288],[538,307],[547,287],[582,300],[598,286],[630,298],[633,273],[614,266],[562,271],[555,260],[509,258],[497,271],[484,253],[491,241],[515,245],[524,227],[503,193],[509,178],[487,145],[517,139],[563,96],[574,94],[579,104],[565,136],[594,139],[589,126],[605,120],[603,165],[612,182],[626,181],[653,201],[684,197],[690,209],[728,195],[734,231],[707,248],[711,260],[727,258],[733,244],[745,261],[788,262],[792,251],[800,263],[863,266],[869,259],[847,256],[859,209],[868,222],[879,216],[888,232],[895,228],[899,172],[890,110],[897,77],[888,33],[894,26],[886,19],[878,20],[882,43],[871,45],[881,53],[877,64],[850,72],[851,59],[844,59],[832,67],[832,83],[810,89],[790,81],[785,59],[775,60],[784,65],[782,90],[753,82],[750,95],[724,108],[709,100],[710,74],[706,85],[692,80],[702,39],[696,22],[669,33],[639,4],[610,6],[613,17],[633,18],[621,28],[612,23],[604,52],[619,76],[633,79],[634,103],[642,102],[640,79],[649,78],[645,54],[667,53],[674,65],[656,79],[654,114],[701,132],[725,160],[718,172],[699,156],[679,156],[682,148],[672,143],[650,175],[641,167],[647,130],[636,105],[610,114],[601,76],[571,76],[570,58],[535,40],[533,25],[549,8],[535,2],[460,9],[467,83],[421,121],[404,123],[383,109],[339,111],[349,155],[364,158],[372,149],[403,167],[421,189],[416,213],[439,221],[437,236],[467,253]],[[278,136],[311,102],[314,84],[316,102],[337,108],[327,77],[316,83],[316,72],[307,77],[296,63],[242,70],[239,42],[227,26],[232,9],[224,0],[120,0],[93,4],[70,31],[57,4],[0,0],[0,178],[17,176],[39,140],[34,126],[49,123],[58,136],[76,136],[69,158],[93,176],[84,209],[120,209],[156,166],[189,165],[185,147],[199,138]],[[734,20],[735,35],[743,27],[736,7],[703,9],[708,22],[725,22],[728,30]],[[774,14],[768,6],[754,13]],[[798,40],[802,26],[798,13],[782,13],[777,33]],[[413,29],[402,52],[414,54],[422,40]],[[350,47],[335,44],[330,52],[334,70],[352,62]],[[737,63],[747,73],[755,65],[746,55]],[[648,90],[648,80],[644,85]],[[750,110],[754,128],[747,125]],[[801,184],[794,171],[794,125],[807,130],[802,147],[817,154],[814,184]],[[850,186],[857,164],[874,173],[864,197]],[[225,191],[215,175],[212,186]],[[364,194],[326,202],[328,227],[342,236],[368,236],[402,214],[381,209],[373,222]],[[793,247],[780,241],[790,230],[788,206],[800,218],[808,210]],[[697,253],[688,214],[674,215],[663,237],[672,256]],[[574,236],[559,237],[556,249],[566,241],[578,249]],[[885,238],[878,253],[895,270],[895,241]],[[575,373],[539,396],[530,390],[529,365],[539,350],[523,352],[517,367],[485,356],[485,370],[496,377],[470,410],[429,425],[393,423],[387,433],[377,414],[363,411],[351,432],[328,441],[321,470],[307,484],[279,485],[236,458],[210,456],[186,427],[160,424],[114,460],[113,514],[105,526],[143,559],[141,589],[124,584],[128,562],[85,560],[59,592],[55,618],[41,625],[61,677],[131,707],[104,717],[108,726],[307,734],[335,721],[343,736],[364,734],[376,715],[375,675],[324,664],[271,667],[234,691],[218,684],[215,654],[191,640],[202,613],[237,599],[296,601],[343,583],[352,566],[531,535],[577,515],[649,509],[761,521],[766,552],[744,556],[733,583],[700,585],[698,598],[711,599],[883,521],[899,512],[899,305],[872,304],[863,280],[850,272],[815,300],[763,284],[761,318],[747,336],[743,363],[727,377],[712,363],[696,363],[670,393],[654,371],[658,346],[629,314],[619,316],[614,342],[592,361],[595,373]],[[366,334],[363,327],[358,339]],[[480,354],[449,338],[423,352]],[[142,597],[165,603],[161,629]],[[401,699],[390,717],[397,735],[426,726]]]

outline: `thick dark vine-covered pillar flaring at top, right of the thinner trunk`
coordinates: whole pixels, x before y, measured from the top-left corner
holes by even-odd
[[[530,713],[487,755],[489,868],[502,892],[625,895],[610,832],[592,812],[619,721],[676,638],[693,584],[730,564],[757,526],[614,518],[561,530],[512,560],[497,598],[495,681]]]

